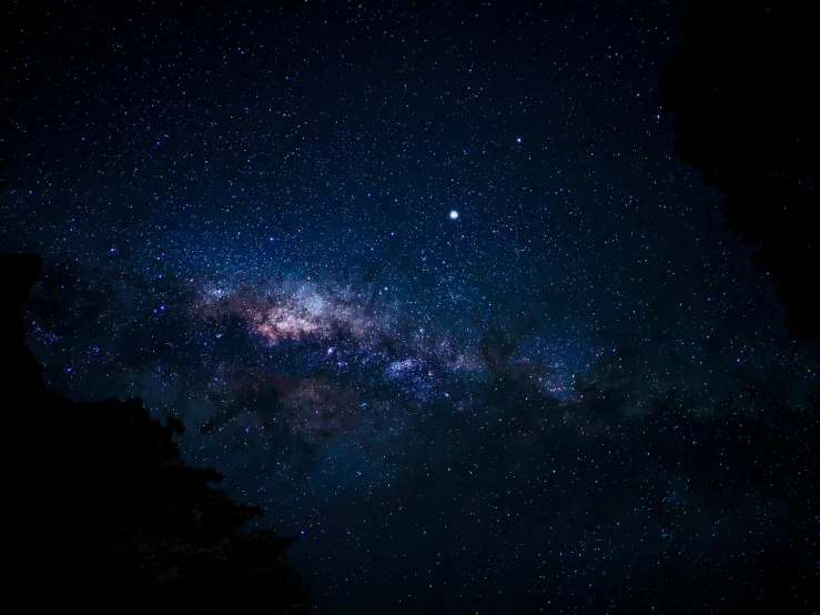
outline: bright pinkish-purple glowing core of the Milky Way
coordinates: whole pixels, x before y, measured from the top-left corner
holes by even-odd
[[[219,345],[225,335],[222,329],[234,323],[254,347],[253,364],[259,366],[251,374],[236,366],[247,361],[220,364],[212,381],[224,382],[227,405],[234,410],[216,411],[206,419],[205,430],[212,432],[215,424],[223,429],[233,412],[246,415],[246,410],[240,410],[245,402],[235,400],[245,400],[250,391],[272,395],[275,401],[269,412],[275,411],[277,421],[314,445],[322,434],[335,435],[376,412],[379,406],[368,404],[366,394],[360,399],[362,382],[392,390],[397,395],[394,403],[417,412],[437,401],[452,405],[449,390],[458,383],[486,383],[493,372],[503,370],[532,380],[541,394],[571,394],[569,367],[556,341],[540,344],[553,362],[558,361],[547,370],[543,357],[512,359],[509,340],[487,333],[472,339],[477,335],[475,327],[456,342],[448,331],[419,323],[406,306],[385,299],[386,291],[373,284],[356,291],[310,281],[199,288],[190,312],[194,326],[215,327],[213,344]],[[283,372],[290,377],[281,377]],[[355,386],[334,384],[350,379],[355,379]],[[214,385],[209,391],[214,397]],[[223,402],[229,399],[224,391],[216,396]],[[462,399],[458,407],[466,411],[474,405]]]

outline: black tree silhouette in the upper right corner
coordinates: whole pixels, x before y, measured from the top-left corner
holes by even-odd
[[[812,4],[694,0],[660,74],[682,160],[722,195],[728,228],[779,283],[787,326],[820,336],[820,46]]]

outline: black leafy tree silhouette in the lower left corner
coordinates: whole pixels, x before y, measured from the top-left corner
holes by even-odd
[[[243,532],[259,508],[188,466],[140,400],[73,403],[43,386],[23,305],[40,271],[2,255],[3,569],[7,602],[83,612],[306,613],[288,540]]]

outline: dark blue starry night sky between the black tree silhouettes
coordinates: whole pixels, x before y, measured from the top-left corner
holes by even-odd
[[[817,537],[817,352],[671,155],[667,2],[123,4],[3,9],[29,343],[316,612],[719,606]]]

